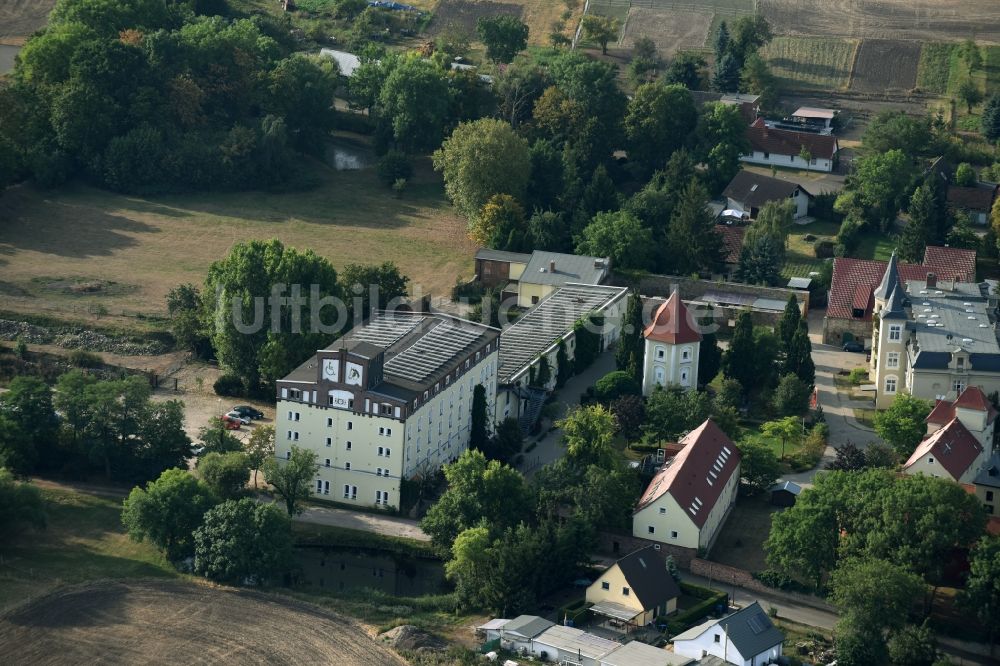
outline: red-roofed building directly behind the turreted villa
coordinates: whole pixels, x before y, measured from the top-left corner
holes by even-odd
[[[833,279],[823,319],[825,344],[842,345],[858,340],[866,348],[871,346],[875,292],[888,265],[888,262],[871,259],[837,257],[833,260]],[[929,246],[923,264],[897,262],[897,271],[903,280],[923,280],[927,273],[934,272],[971,282],[976,276],[976,252]]]

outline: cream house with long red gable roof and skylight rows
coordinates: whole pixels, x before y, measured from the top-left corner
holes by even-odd
[[[685,435],[683,448],[656,473],[632,514],[632,534],[708,549],[736,501],[740,451],[708,419]]]

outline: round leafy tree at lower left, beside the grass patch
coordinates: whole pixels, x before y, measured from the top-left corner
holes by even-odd
[[[132,489],[122,524],[133,541],[148,540],[179,562],[194,554],[194,531],[216,501],[209,487],[186,470],[168,469],[145,489]]]

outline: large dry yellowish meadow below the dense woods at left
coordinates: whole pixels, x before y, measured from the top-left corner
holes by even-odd
[[[471,276],[474,247],[436,175],[418,169],[396,199],[371,169],[322,170],[320,187],[288,194],[10,189],[0,196],[0,302],[6,310],[128,323],[165,313],[167,291],[200,284],[234,243],[254,238],[310,248],[337,268],[391,260],[435,296]]]

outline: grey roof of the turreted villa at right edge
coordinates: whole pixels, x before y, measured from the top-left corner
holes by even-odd
[[[914,367],[944,368],[954,352],[964,351],[973,370],[1000,368],[1000,344],[986,285],[939,281],[937,288],[928,289],[923,280],[910,280],[906,291],[911,302],[906,327],[913,334]]]

